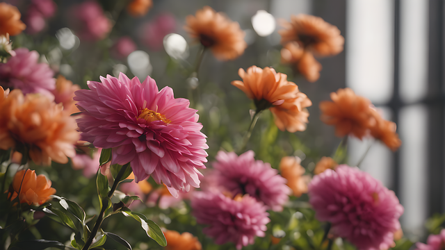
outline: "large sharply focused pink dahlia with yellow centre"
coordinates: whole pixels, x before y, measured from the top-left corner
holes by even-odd
[[[136,182],[151,175],[174,196],[199,188],[197,168],[205,168],[208,147],[189,101],[175,99],[169,87],[159,91],[149,76],[143,83],[122,73],[100,80],[88,81],[90,90],[75,92],[83,111],[77,119],[81,140],[113,148],[111,164],[130,163]]]

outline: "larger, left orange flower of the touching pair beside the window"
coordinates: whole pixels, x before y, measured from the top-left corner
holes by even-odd
[[[357,96],[350,88],[331,93],[332,101],[321,101],[320,119],[335,126],[335,135],[343,137],[352,134],[362,139],[375,124],[371,116],[371,101]]]

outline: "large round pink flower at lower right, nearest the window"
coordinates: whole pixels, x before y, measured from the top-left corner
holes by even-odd
[[[317,219],[332,224],[331,233],[358,249],[388,249],[401,228],[403,206],[394,192],[357,167],[339,165],[314,176],[309,203]]]

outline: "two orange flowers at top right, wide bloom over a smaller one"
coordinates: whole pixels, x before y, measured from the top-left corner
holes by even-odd
[[[344,38],[336,26],[328,24],[321,17],[292,15],[291,22],[282,22],[279,31],[282,63],[291,63],[307,81],[314,82],[320,77],[321,64],[316,56],[334,56],[343,51]]]

